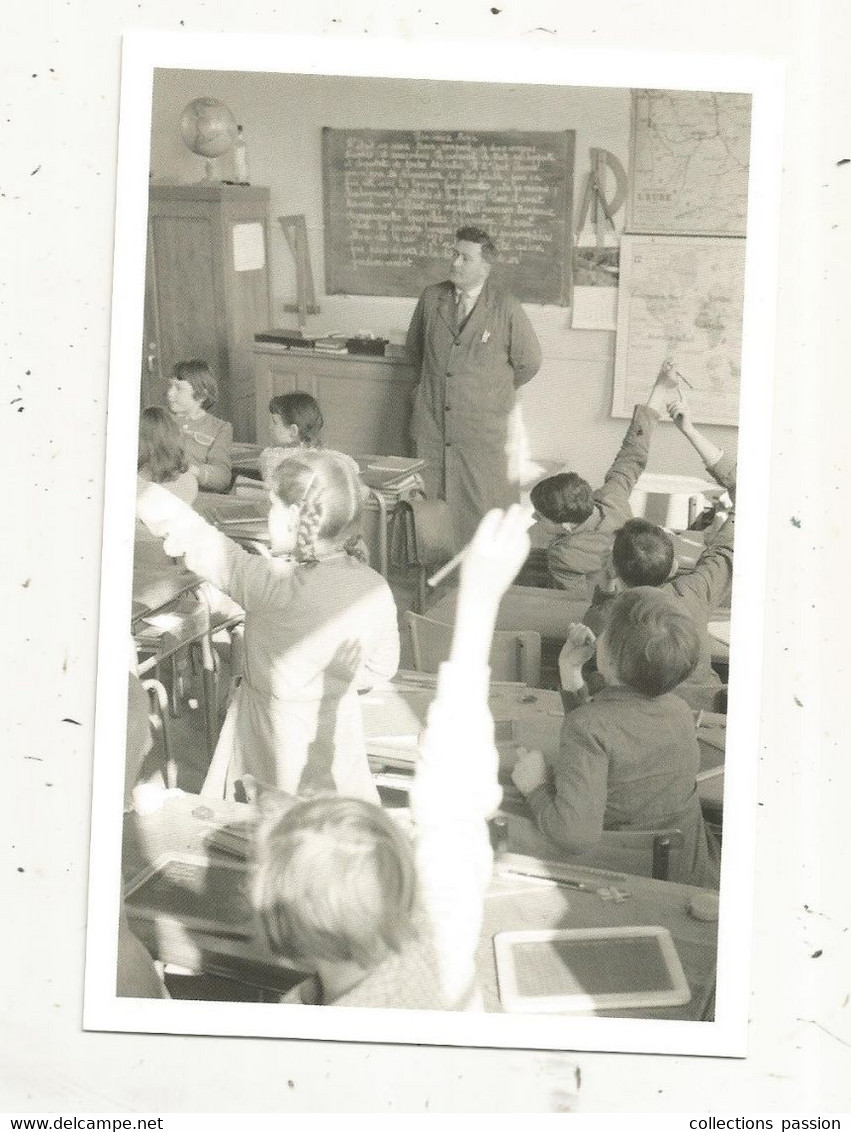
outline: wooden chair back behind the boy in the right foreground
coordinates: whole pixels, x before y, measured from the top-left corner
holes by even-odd
[[[544,837],[534,822],[507,815],[508,848],[558,865],[608,869],[630,876],[652,876],[656,881],[677,881],[680,876],[682,831],[607,830],[587,852],[567,854]]]

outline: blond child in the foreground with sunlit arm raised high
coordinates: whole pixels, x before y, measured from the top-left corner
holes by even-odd
[[[519,507],[490,512],[462,566],[449,660],[421,743],[412,846],[352,798],[299,803],[258,846],[255,903],[276,954],[316,978],[290,1001],[480,1006],[475,952],[499,805],[488,655],[499,601],[528,552]]]

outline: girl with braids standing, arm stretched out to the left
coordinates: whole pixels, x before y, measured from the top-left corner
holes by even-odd
[[[361,491],[332,453],[285,461],[270,492],[273,558],[243,550],[156,484],[137,515],[167,555],[246,611],[244,675],[222,728],[207,791],[250,773],[294,795],[375,800],[358,688],[398,667],[396,606],[359,550]]]

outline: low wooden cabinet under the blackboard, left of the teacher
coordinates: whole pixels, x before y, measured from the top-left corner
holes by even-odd
[[[352,455],[410,456],[414,367],[395,358],[255,346],[257,440],[269,443],[269,400],[303,389],[325,418],[323,444]]]

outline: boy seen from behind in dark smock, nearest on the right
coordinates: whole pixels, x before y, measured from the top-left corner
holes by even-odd
[[[582,666],[594,652],[605,687],[593,698]],[[513,779],[548,842],[567,854],[593,848],[604,830],[682,831],[682,883],[717,886],[695,777],[694,718],[674,689],[699,653],[690,617],[664,593],[621,594],[596,642],[574,625],[560,658],[567,714],[558,754],[521,755]]]

